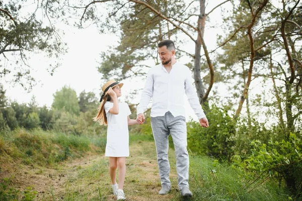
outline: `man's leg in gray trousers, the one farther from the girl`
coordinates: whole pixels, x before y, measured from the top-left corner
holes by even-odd
[[[176,170],[178,175],[178,188],[189,187],[189,155],[187,151],[187,125],[183,116],[168,116],[168,128],[174,143],[176,155]]]

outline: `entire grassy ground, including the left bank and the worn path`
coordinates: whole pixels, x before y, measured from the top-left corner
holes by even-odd
[[[177,189],[176,159],[173,146],[169,149],[171,193],[158,194],[161,188],[156,149],[151,135],[131,133],[130,157],[126,159],[127,173],[124,191],[128,200],[183,200]],[[170,143],[171,144],[171,143]],[[115,200],[108,173],[109,161],[104,157],[106,138],[65,135],[42,130],[16,130],[0,136],[0,162],[20,160],[28,168],[26,176],[33,184],[17,190],[13,182],[2,178],[0,200]],[[87,153],[90,152],[88,157]],[[84,156],[78,160],[81,156]],[[63,161],[63,163],[62,163]],[[59,165],[60,164],[60,165]],[[65,165],[64,165],[65,164]],[[49,168],[59,165],[59,168]],[[2,171],[2,169],[0,169]],[[34,184],[35,175],[53,175],[53,183]],[[188,200],[288,200],[289,194],[279,189],[274,180],[257,186],[245,185],[237,170],[209,157],[190,154],[190,189]],[[65,175],[64,177],[58,175]],[[61,180],[60,180],[61,179]],[[6,181],[7,180],[7,181]],[[52,181],[51,180],[51,181]],[[57,183],[55,183],[57,182]],[[44,186],[44,188],[41,188]],[[247,187],[244,187],[247,186]],[[41,191],[45,193],[40,193]],[[46,189],[46,190],[45,190]],[[1,194],[2,193],[2,194]],[[1,197],[2,196],[2,197]],[[26,196],[28,196],[26,198]]]

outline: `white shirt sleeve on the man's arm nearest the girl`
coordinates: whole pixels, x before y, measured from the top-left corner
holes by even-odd
[[[150,69],[147,75],[145,86],[141,93],[139,104],[136,108],[137,114],[143,113],[144,111],[147,110],[149,101],[153,96],[153,90],[154,90],[153,84],[154,84],[153,69]]]

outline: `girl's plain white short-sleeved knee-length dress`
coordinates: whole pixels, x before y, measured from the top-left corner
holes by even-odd
[[[107,143],[105,156],[128,157],[129,156],[129,130],[128,116],[131,114],[127,103],[118,103],[119,113],[111,114],[109,110],[113,103],[107,101],[104,109],[107,116]]]

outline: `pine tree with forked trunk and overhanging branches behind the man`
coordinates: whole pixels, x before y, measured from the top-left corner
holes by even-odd
[[[120,34],[120,45],[112,51],[103,53],[99,71],[106,76],[118,75],[126,78],[135,75],[145,75],[141,67],[149,67],[142,61],[146,59],[157,60],[156,45],[165,38],[176,41],[179,54],[189,55],[194,61],[192,68],[195,87],[200,103],[207,101],[214,83],[214,66],[210,59],[206,42],[203,39],[205,21],[210,13],[229,0],[222,2],[208,13],[205,13],[205,0],[200,1],[92,1],[83,5],[65,4],[68,13],[80,17],[79,27],[85,22],[97,23],[101,31],[115,31]],[[97,4],[106,4],[108,15],[104,20],[98,16]],[[72,12],[73,11],[73,12]],[[193,41],[194,52],[187,52],[180,48],[184,43]],[[201,47],[208,66],[209,83],[203,83],[201,73]],[[192,66],[192,65],[191,65]]]

